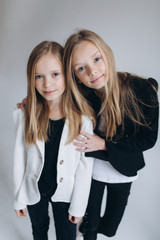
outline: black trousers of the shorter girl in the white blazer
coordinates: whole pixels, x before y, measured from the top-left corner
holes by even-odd
[[[51,202],[50,197],[42,194],[40,202],[27,206],[32,224],[34,240],[48,240],[49,202],[52,205],[57,240],[75,240],[76,224],[68,220],[69,203]]]

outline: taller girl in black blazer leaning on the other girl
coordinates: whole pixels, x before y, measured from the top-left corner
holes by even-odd
[[[80,106],[97,116],[94,135],[77,137],[79,151],[95,158],[86,215],[80,226],[85,240],[97,233],[114,236],[122,219],[131,183],[144,167],[143,151],[154,146],[158,133],[158,84],[129,73],[117,73],[112,50],[94,32],[71,35],[64,52],[65,74]],[[89,110],[88,110],[89,111]],[[100,217],[104,188],[106,209]]]

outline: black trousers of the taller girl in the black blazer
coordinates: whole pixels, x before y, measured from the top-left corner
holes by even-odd
[[[105,186],[107,187],[106,208],[103,217],[100,216],[102,198]],[[96,240],[97,233],[108,237],[116,234],[123,217],[130,194],[130,183],[103,183],[92,180],[89,202],[80,232],[84,240]]]

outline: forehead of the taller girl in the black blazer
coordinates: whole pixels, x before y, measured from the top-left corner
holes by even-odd
[[[77,64],[77,61],[85,61],[99,52],[100,50],[94,43],[86,40],[82,41],[73,52],[72,63]]]

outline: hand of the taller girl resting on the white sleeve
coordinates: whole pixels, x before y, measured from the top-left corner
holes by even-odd
[[[105,139],[97,136],[96,134],[91,135],[86,132],[80,132],[82,136],[78,136],[76,140],[78,142],[73,142],[73,144],[79,148],[77,148],[80,152],[93,152],[98,150],[107,150]]]

